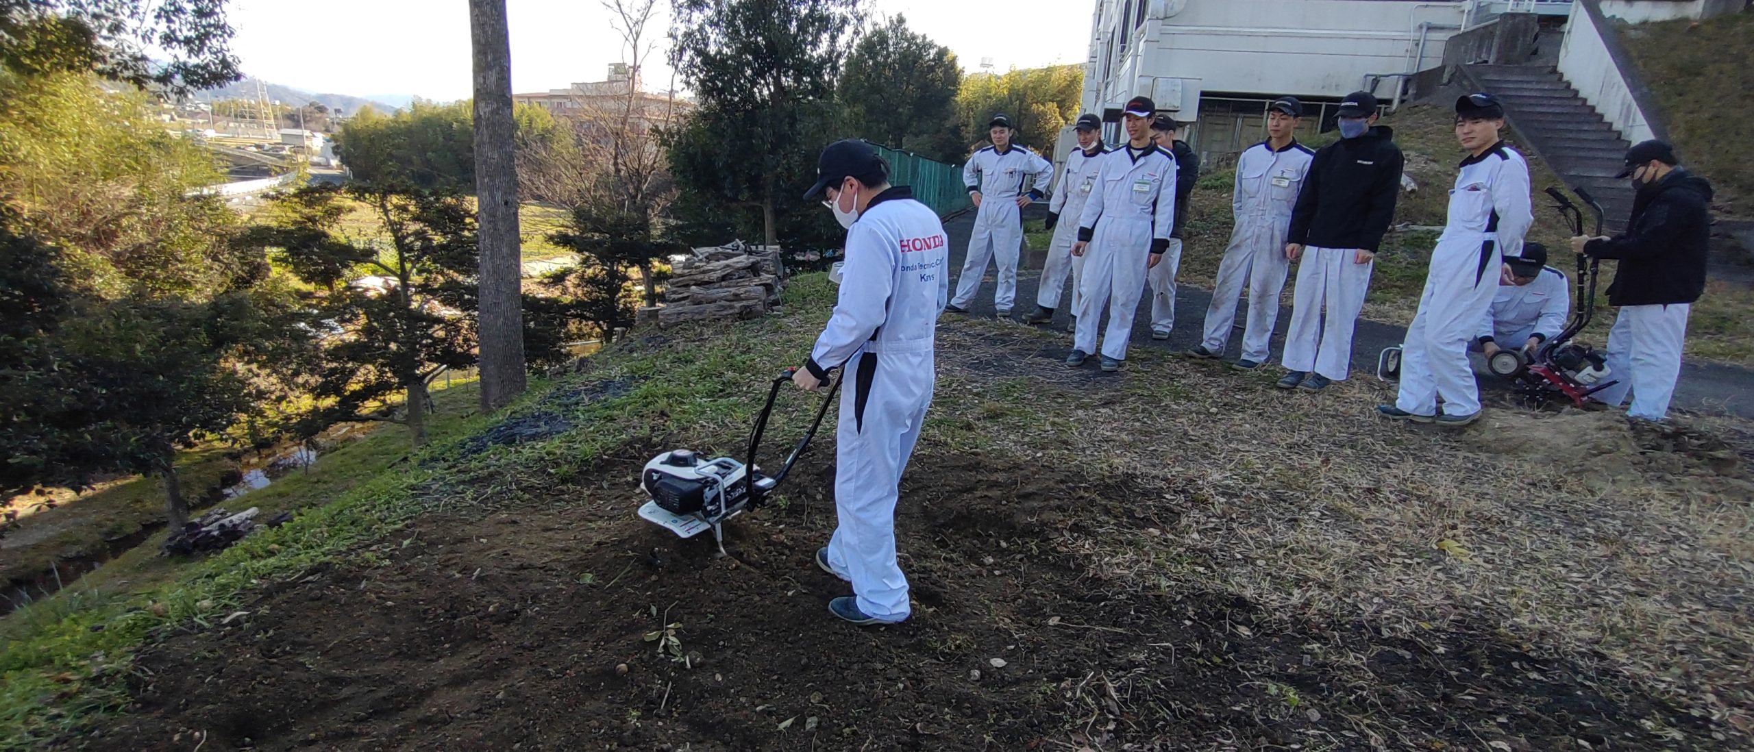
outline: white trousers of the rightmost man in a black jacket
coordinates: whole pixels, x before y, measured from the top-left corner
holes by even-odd
[[[1631,391],[1626,417],[1661,421],[1680,377],[1680,347],[1687,340],[1693,303],[1622,305],[1608,330],[1608,379],[1617,384],[1593,394],[1619,407]]]

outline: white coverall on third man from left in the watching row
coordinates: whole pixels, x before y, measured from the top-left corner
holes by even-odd
[[[1089,245],[1084,247],[1072,347],[1096,352],[1096,328],[1107,305],[1102,354],[1124,361],[1151,251],[1168,247],[1175,228],[1175,158],[1151,145],[1144,153],[1119,147],[1100,160],[1096,189],[1079,217],[1079,238],[1087,238]]]

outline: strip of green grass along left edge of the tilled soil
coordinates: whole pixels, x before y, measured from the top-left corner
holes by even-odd
[[[745,375],[800,361],[833,300],[826,275],[805,275],[786,291],[788,309],[803,314],[665,333],[710,340],[702,347],[647,352],[640,340],[610,347],[596,356],[591,379],[623,379],[631,389],[574,407],[567,417],[582,428],[545,442],[463,458],[458,440],[495,419],[472,415],[472,386],[438,393],[444,415],[428,424],[431,445],[412,458],[405,435],[379,431],[323,458],[309,477],[282,479],[240,500],[268,514],[303,508],[291,522],[189,563],[156,559],[142,547],[21,608],[0,622],[0,750],[40,748],[96,715],[123,710],[130,656],[154,629],[210,626],[270,580],[370,557],[374,545],[396,545],[391,533],[414,515],[484,512],[530,503],[533,494],[549,498],[554,484],[614,482],[589,470],[605,452],[668,438],[651,435],[651,426],[691,426],[695,449],[703,452],[738,449],[766,389]],[[554,410],[540,401],[540,391],[531,389],[500,417]],[[814,398],[786,398],[775,407],[775,426],[802,426],[814,407]],[[775,445],[786,440],[774,438]]]

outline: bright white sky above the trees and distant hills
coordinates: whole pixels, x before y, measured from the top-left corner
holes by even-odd
[[[905,14],[909,26],[956,53],[963,68],[993,58],[996,70],[1082,63],[1093,5],[1012,0],[866,0],[873,16]],[[649,33],[667,44],[668,0]],[[354,96],[470,96],[467,0],[232,0],[233,51],[244,72],[275,84]],[[623,60],[621,37],[596,0],[507,0],[512,89],[544,91],[602,81]],[[663,47],[645,61],[645,86],[665,89]]]

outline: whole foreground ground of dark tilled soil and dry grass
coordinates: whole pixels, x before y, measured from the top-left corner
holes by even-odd
[[[1503,408],[1456,442],[1361,419],[1363,380],[1314,400],[1205,363],[1068,370],[1023,328],[942,338],[898,508],[902,626],[826,614],[849,592],[810,559],[833,524],[826,426],[724,559],[635,517],[638,466],[677,438],[652,428],[163,635],[137,705],[63,747],[1745,748],[1749,605],[1724,578],[1743,559],[1719,554],[1742,543],[1665,538],[1745,507],[1738,428]],[[1605,461],[1626,470],[1577,480]],[[1458,491],[1507,468],[1556,473]]]

